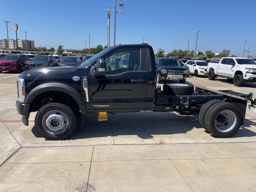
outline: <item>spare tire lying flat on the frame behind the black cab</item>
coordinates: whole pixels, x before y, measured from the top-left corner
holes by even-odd
[[[163,86],[165,95],[191,95],[194,93],[194,85],[167,83]]]

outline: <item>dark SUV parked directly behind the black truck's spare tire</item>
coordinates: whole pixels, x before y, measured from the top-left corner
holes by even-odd
[[[185,83],[188,67],[180,60],[174,58],[156,58],[157,82],[164,80],[179,80]]]

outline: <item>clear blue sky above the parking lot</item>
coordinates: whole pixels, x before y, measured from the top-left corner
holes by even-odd
[[[250,55],[256,56],[255,0],[118,0],[123,3],[117,14],[116,44],[141,43],[152,45],[154,51],[163,48],[195,49],[196,30],[198,51],[210,49],[242,56],[244,40]],[[1,18],[10,21],[9,38],[16,38],[13,24],[18,23],[18,38],[35,41],[35,46],[64,45],[82,49],[88,34],[91,47],[107,44],[107,8],[112,10],[110,43],[113,45],[114,0],[1,0]],[[6,24],[0,23],[0,38],[6,38]],[[247,46],[247,49],[248,49]],[[247,55],[247,54],[246,54]]]

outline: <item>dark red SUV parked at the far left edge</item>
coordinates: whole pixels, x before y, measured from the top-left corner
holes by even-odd
[[[22,72],[28,65],[30,58],[22,54],[8,54],[0,60],[0,73],[2,71]]]

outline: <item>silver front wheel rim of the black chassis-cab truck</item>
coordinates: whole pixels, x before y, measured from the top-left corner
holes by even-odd
[[[61,111],[52,110],[42,118],[44,130],[52,135],[58,135],[68,128],[68,117]]]

